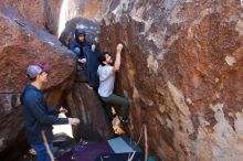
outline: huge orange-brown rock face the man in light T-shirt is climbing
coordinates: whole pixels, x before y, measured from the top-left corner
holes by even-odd
[[[158,160],[243,160],[242,11],[237,0],[123,0],[105,15],[102,49],[125,44],[117,92],[130,133],[145,124]]]

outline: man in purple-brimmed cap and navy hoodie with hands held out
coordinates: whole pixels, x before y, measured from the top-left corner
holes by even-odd
[[[49,67],[41,65],[30,65],[27,75],[31,84],[21,94],[21,104],[24,106],[23,119],[27,128],[27,139],[38,153],[39,161],[53,160],[52,150],[52,125],[76,125],[77,118],[57,118],[54,115],[66,112],[64,108],[52,108],[46,104],[41,90],[47,82]]]

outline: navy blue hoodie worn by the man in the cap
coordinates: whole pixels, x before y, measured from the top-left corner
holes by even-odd
[[[47,142],[52,142],[52,125],[67,124],[67,118],[53,116],[60,110],[47,106],[43,93],[36,87],[29,85],[20,97],[24,106],[23,119],[27,128],[27,139],[30,144],[43,143],[41,131],[45,131]]]

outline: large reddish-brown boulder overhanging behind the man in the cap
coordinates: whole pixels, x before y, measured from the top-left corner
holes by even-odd
[[[28,84],[28,65],[39,62],[51,66],[44,90],[49,104],[56,107],[74,80],[75,61],[55,36],[21,17],[0,13],[0,158],[9,161],[27,150],[19,96]]]

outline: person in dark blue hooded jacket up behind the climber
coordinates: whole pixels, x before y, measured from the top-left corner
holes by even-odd
[[[83,29],[75,30],[75,39],[71,40],[68,44],[70,50],[77,54],[77,62],[87,71],[88,82],[91,87],[97,90],[98,88],[98,55],[95,43],[86,41],[86,32]]]

